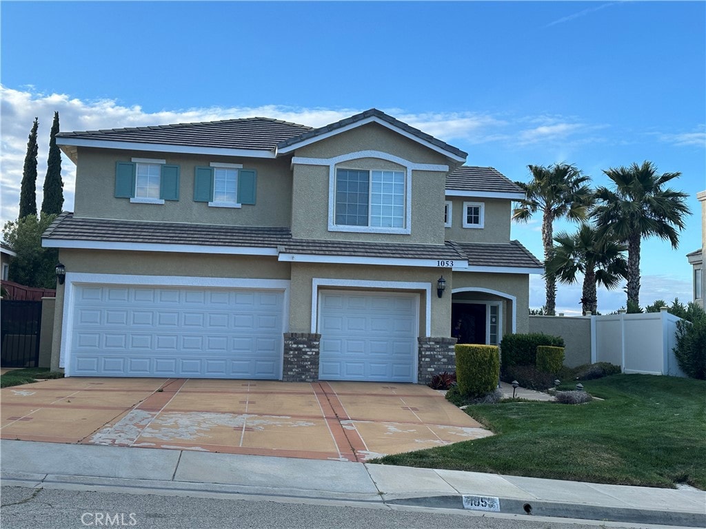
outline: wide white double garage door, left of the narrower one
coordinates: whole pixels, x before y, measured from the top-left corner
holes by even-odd
[[[284,293],[78,285],[68,374],[280,379]]]

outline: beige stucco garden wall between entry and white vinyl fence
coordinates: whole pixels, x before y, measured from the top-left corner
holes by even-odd
[[[591,318],[530,316],[530,332],[542,332],[564,339],[564,365],[591,363]]]

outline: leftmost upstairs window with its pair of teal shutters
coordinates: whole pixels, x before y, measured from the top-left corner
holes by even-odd
[[[115,165],[115,197],[130,202],[164,204],[179,200],[179,166],[166,160],[133,158]]]

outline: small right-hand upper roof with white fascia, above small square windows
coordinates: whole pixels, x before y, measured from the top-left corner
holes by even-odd
[[[465,165],[446,177],[446,195],[520,200],[525,197],[525,192],[494,167]]]

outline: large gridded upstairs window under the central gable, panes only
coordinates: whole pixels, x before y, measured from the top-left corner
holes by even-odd
[[[405,172],[338,169],[335,224],[405,228]]]

